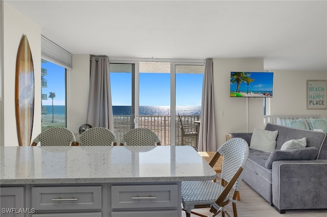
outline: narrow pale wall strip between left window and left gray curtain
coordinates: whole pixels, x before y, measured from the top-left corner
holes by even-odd
[[[67,127],[75,134],[78,128],[86,123],[89,77],[90,77],[90,56],[73,55],[73,69],[67,76]]]

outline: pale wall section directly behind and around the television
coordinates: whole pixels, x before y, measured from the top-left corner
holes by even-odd
[[[228,132],[252,131],[263,128],[262,98],[230,98],[231,71],[263,71],[264,60],[214,59],[214,93],[217,148],[226,141]],[[247,102],[248,100],[248,102]],[[248,111],[248,112],[247,112]],[[224,112],[224,116],[221,116]],[[247,121],[248,117],[248,121]]]

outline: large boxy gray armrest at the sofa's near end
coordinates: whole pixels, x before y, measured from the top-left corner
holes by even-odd
[[[277,160],[272,164],[272,203],[277,210],[326,209],[327,160]]]

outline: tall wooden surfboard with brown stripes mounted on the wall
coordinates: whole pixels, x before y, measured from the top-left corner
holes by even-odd
[[[34,118],[34,68],[26,35],[20,41],[15,75],[15,112],[19,146],[30,146]]]

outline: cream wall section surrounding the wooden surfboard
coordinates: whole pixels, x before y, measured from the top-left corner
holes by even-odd
[[[32,139],[41,132],[41,28],[4,2],[4,62],[1,110],[1,145],[18,146],[15,117],[15,71],[20,40],[26,35],[34,65],[34,123]]]

